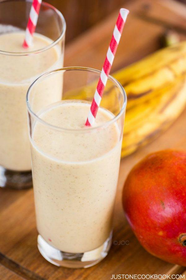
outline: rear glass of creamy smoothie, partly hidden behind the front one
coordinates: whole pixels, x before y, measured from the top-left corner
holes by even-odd
[[[63,67],[64,57],[64,17],[45,2],[33,45],[22,47],[31,5],[30,0],[0,2],[0,187],[15,189],[32,186],[26,93],[42,73]],[[61,80],[53,82],[62,85]],[[52,87],[46,83],[40,89],[46,105],[60,98],[61,91]]]

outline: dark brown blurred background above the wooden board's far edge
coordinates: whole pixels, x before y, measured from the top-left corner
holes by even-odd
[[[186,0],[177,0],[186,4]],[[76,38],[85,30],[94,26],[113,11],[125,7],[132,2],[141,0],[46,0],[45,2],[55,6],[67,23],[66,43]],[[149,2],[149,1],[148,1]],[[150,2],[157,2],[151,0]],[[142,3],[143,5],[143,3]],[[144,4],[145,5],[145,4]],[[146,7],[147,9],[148,7]]]

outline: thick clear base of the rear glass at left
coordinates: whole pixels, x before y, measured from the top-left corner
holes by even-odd
[[[11,189],[28,189],[32,187],[31,171],[13,171],[0,166],[0,187]]]

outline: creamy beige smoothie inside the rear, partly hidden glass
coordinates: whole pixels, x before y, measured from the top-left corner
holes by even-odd
[[[0,54],[0,165],[15,171],[31,170],[30,146],[27,128],[26,92],[31,83],[43,72],[62,67],[63,61],[57,47],[49,48],[37,54],[16,55],[28,49],[22,47],[24,32],[16,31],[0,35],[0,50],[10,52]],[[35,34],[33,46],[29,51],[45,48],[53,41]],[[11,52],[14,55],[11,55]],[[51,84],[42,87],[41,95],[46,105],[59,101],[61,81],[54,84],[59,90],[51,92]],[[53,86],[54,87],[54,86]],[[44,98],[45,96],[45,98]],[[38,110],[40,100],[37,100]]]

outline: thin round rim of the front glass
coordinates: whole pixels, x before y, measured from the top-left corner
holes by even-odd
[[[122,92],[122,96],[123,96],[123,105],[122,105],[122,108],[120,109],[119,113],[114,116],[113,119],[111,120],[108,120],[106,122],[104,122],[103,124],[99,125],[99,126],[95,126],[95,127],[86,127],[86,129],[83,129],[83,128],[64,128],[64,127],[59,127],[59,126],[55,126],[55,125],[52,125],[52,124],[49,124],[47,123],[46,121],[44,121],[43,119],[41,119],[37,114],[35,114],[32,109],[31,109],[31,106],[30,106],[30,103],[29,103],[29,95],[30,95],[30,92],[33,88],[33,86],[35,84],[37,84],[40,80],[42,80],[43,78],[45,77],[48,77],[56,72],[61,72],[61,71],[88,71],[88,72],[94,72],[94,73],[97,73],[101,74],[101,71],[100,70],[97,70],[97,69],[94,69],[94,68],[87,68],[87,67],[78,67],[78,66],[74,66],[74,67],[64,67],[64,68],[58,68],[58,69],[55,69],[55,70],[51,70],[49,72],[46,72],[44,74],[42,74],[40,77],[38,77],[30,86],[29,86],[29,89],[27,91],[27,94],[26,94],[26,105],[27,105],[27,110],[29,111],[29,114],[31,114],[35,119],[37,119],[40,123],[52,128],[52,129],[55,129],[55,130],[60,130],[60,131],[69,131],[69,132],[72,132],[72,131],[78,131],[78,132],[86,132],[86,131],[90,131],[90,130],[95,130],[95,129],[98,129],[98,128],[103,128],[104,126],[107,127],[108,125],[114,123],[115,121],[117,121],[117,119],[120,118],[120,116],[123,114],[123,112],[125,111],[126,109],[126,103],[127,103],[127,96],[126,96],[126,92],[123,88],[123,86],[114,78],[112,77],[111,75],[108,75],[108,79],[110,81],[112,81],[115,85],[117,85],[117,87],[120,89],[120,91]],[[85,119],[86,121],[86,119]]]

